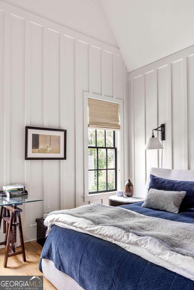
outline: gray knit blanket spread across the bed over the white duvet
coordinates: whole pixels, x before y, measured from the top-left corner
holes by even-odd
[[[49,215],[59,213],[81,217],[99,226],[116,226],[137,236],[151,236],[172,251],[194,257],[194,224],[191,223],[147,217],[132,210],[96,203],[53,211]]]

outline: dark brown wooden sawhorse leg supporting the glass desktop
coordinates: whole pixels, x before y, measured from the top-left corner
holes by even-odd
[[[5,241],[0,243],[0,245],[5,246],[5,258],[4,258],[4,264],[3,264],[4,268],[7,267],[8,258],[15,255],[22,254],[23,261],[24,262],[26,261],[24,239],[23,239],[23,233],[22,233],[22,222],[21,222],[21,216],[20,216],[21,212],[22,212],[22,209],[19,207],[16,207],[15,205],[4,205],[1,207],[0,228],[1,228],[2,219],[3,221],[7,223]],[[18,216],[18,223],[17,223],[17,216]],[[15,251],[16,226],[19,226],[19,236],[20,236],[20,242],[21,242],[21,248],[22,248],[20,251]],[[5,229],[5,224],[4,224],[4,229]],[[10,246],[10,243],[11,243],[11,246]]]

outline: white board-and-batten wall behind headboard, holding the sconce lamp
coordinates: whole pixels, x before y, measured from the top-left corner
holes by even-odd
[[[161,150],[144,151],[152,129],[166,126],[163,168],[194,169],[194,46],[128,73],[131,106],[131,171],[135,194],[144,195],[150,167]],[[160,132],[154,131],[155,137]]]

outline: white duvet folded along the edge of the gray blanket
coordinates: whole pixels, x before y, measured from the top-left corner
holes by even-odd
[[[194,281],[194,258],[173,252],[150,236],[137,236],[115,226],[97,226],[89,220],[62,213],[49,215],[44,224],[48,227],[55,224],[115,243],[149,262]]]

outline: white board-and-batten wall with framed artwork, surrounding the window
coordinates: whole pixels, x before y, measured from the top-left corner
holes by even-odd
[[[22,205],[26,239],[44,212],[90,203],[83,92],[123,100],[126,114],[126,80],[119,49],[0,1],[0,187],[20,182],[43,199]],[[25,161],[25,125],[67,129],[67,160]]]

